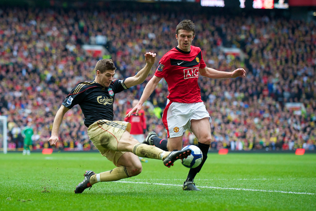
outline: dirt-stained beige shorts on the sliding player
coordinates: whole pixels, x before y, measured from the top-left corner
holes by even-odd
[[[131,131],[131,123],[99,120],[90,125],[88,136],[102,156],[119,166],[118,160],[125,152],[118,152],[118,143],[125,130]]]

